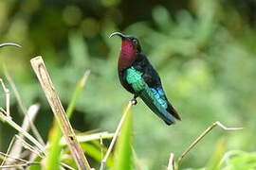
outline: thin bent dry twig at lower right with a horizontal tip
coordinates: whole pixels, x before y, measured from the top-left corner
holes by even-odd
[[[214,127],[221,127],[224,130],[240,130],[243,129],[243,127],[226,127],[220,122],[214,122],[210,127],[208,127],[203,133],[201,133],[195,141],[192,142],[192,144],[181,154],[181,156],[177,160],[177,165],[182,161],[182,159],[186,156],[186,154],[192,150],[192,148],[198,144]]]

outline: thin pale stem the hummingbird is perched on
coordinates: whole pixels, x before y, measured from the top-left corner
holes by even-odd
[[[135,104],[135,101],[134,101],[134,100],[129,101],[129,103],[128,103],[126,109],[124,110],[124,112],[123,112],[123,114],[122,114],[122,117],[121,117],[121,119],[120,119],[120,121],[119,121],[119,126],[117,127],[117,129],[116,129],[116,131],[115,131],[115,133],[114,133],[113,139],[112,139],[111,143],[109,144],[109,147],[108,147],[108,149],[107,149],[107,152],[106,152],[106,154],[105,154],[103,160],[101,161],[101,168],[100,168],[100,170],[105,169],[106,161],[107,161],[107,159],[108,159],[108,157],[109,157],[109,155],[110,155],[110,153],[111,153],[111,151],[112,151],[112,149],[113,149],[113,147],[114,147],[114,144],[116,143],[116,141],[117,141],[117,139],[118,139],[120,128],[122,127],[122,124],[123,124],[123,122],[124,122],[124,120],[125,120],[125,117],[126,117],[128,111],[131,110],[131,108],[132,108],[132,106],[133,106],[134,104]]]

